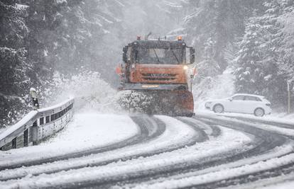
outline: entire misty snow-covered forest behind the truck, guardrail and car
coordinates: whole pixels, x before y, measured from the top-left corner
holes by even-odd
[[[0,0],[0,125],[31,110],[31,87],[54,98],[57,77],[97,71],[116,88],[122,47],[149,32],[195,47],[196,99],[229,83],[285,112],[293,81],[294,111],[292,0]]]

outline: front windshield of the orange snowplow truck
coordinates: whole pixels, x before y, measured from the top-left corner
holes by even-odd
[[[183,64],[183,48],[138,48],[139,64]]]

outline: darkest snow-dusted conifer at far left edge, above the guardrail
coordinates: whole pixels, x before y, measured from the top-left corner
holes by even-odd
[[[27,61],[27,6],[0,1],[0,127],[26,112],[33,65]]]

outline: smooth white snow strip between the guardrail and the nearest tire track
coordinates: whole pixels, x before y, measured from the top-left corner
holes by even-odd
[[[55,137],[38,146],[0,151],[0,166],[103,147],[134,137],[140,130],[126,115],[77,113]]]

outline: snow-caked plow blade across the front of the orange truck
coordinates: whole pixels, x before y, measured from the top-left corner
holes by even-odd
[[[151,86],[149,85],[150,88]],[[181,88],[176,86],[175,90],[167,90],[165,86],[161,86],[161,89],[124,89],[119,104],[132,113],[191,117],[194,115],[192,93],[184,88],[179,90],[178,87]]]

